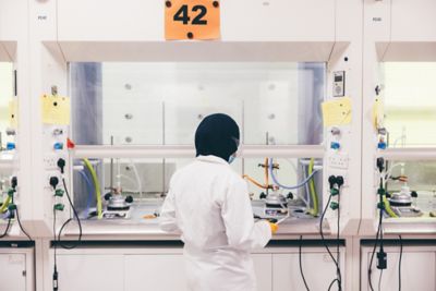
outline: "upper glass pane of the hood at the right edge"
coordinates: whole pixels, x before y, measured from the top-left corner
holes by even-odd
[[[436,145],[436,62],[388,62],[386,129],[390,147]]]

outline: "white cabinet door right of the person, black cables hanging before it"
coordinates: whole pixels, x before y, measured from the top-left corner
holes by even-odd
[[[336,255],[336,253],[334,253]],[[341,254],[341,266],[343,266],[343,254]],[[304,277],[310,290],[325,291],[336,278],[336,266],[327,253],[308,252],[302,253],[302,266]],[[346,270],[342,267],[342,289],[344,288]],[[336,286],[332,288],[336,290]],[[300,274],[298,253],[279,253],[272,255],[272,290],[290,291],[305,290]]]

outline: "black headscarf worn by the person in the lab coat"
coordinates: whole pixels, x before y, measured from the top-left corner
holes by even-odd
[[[225,160],[238,150],[239,126],[229,116],[216,113],[206,117],[195,132],[197,156],[217,156]]]

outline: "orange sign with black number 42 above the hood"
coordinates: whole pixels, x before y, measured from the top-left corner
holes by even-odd
[[[219,1],[167,0],[166,39],[217,39],[220,37]]]

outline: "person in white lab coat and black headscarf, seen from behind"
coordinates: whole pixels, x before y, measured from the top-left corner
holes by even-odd
[[[195,133],[195,161],[170,181],[160,228],[181,234],[191,291],[255,291],[250,253],[277,231],[266,220],[254,222],[246,182],[229,166],[239,138],[229,116],[206,117]]]

